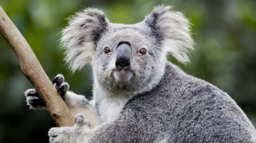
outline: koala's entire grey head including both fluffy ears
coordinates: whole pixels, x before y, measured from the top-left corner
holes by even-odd
[[[66,62],[75,71],[91,63],[94,82],[106,91],[143,92],[163,76],[166,55],[189,61],[193,50],[189,21],[170,6],[155,7],[139,23],[111,23],[98,9],[71,17],[62,32]]]

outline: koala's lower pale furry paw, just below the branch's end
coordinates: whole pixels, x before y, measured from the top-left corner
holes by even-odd
[[[85,120],[83,114],[78,114],[73,127],[55,127],[48,132],[50,143],[71,143],[81,142],[89,130],[90,122]]]

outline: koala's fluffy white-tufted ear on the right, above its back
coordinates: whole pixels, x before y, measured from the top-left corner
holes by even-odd
[[[171,53],[182,63],[189,62],[188,53],[194,50],[190,34],[190,22],[181,12],[171,10],[171,6],[157,6],[145,17],[145,24],[160,40],[163,50]]]

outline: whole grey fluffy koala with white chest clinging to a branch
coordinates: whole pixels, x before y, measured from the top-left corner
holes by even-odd
[[[93,98],[55,77],[75,124],[51,128],[51,143],[256,143],[255,128],[227,93],[166,59],[187,63],[194,45],[189,21],[171,6],[131,25],[86,8],[70,18],[61,41],[73,72],[92,65]],[[31,108],[45,108],[34,89],[25,96]]]

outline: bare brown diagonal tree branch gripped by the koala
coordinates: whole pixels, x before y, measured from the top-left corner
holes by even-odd
[[[45,101],[57,126],[73,126],[74,118],[71,117],[68,107],[57,94],[28,42],[1,7],[0,32],[18,57],[22,73]]]

